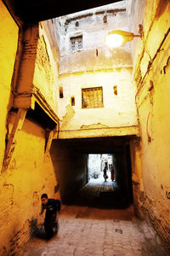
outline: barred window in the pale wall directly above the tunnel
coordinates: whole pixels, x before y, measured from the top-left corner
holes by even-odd
[[[102,87],[82,89],[82,108],[102,108]]]

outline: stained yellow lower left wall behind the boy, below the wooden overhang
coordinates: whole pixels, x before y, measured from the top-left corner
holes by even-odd
[[[9,130],[15,113],[9,117]],[[25,119],[8,166],[1,175],[0,254],[13,255],[28,241],[37,224],[42,223],[41,195],[59,198],[54,164],[45,148],[45,131]]]

